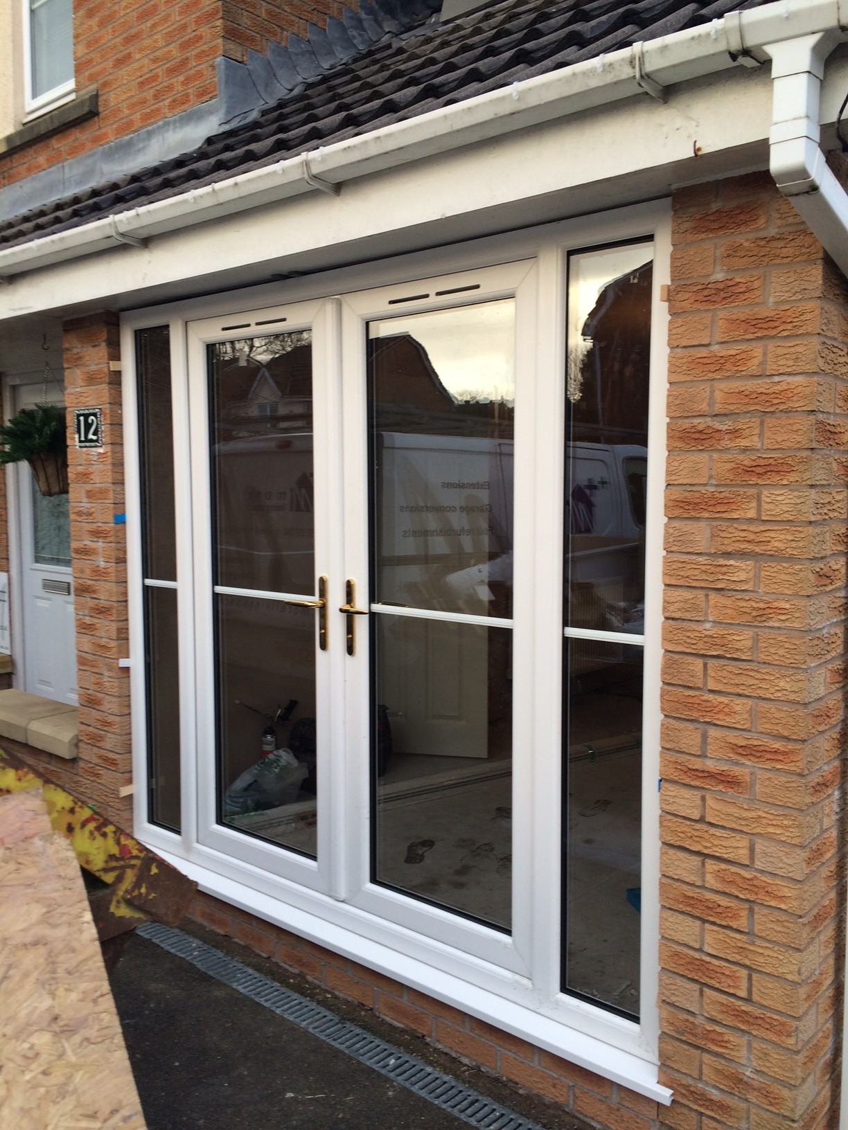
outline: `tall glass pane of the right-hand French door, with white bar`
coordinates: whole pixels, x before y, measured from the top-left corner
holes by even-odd
[[[511,928],[514,301],[369,327],[372,877]]]

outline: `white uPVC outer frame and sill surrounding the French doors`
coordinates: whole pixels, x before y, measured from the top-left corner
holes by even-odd
[[[556,632],[534,633],[527,625],[562,623],[563,576],[563,495],[565,459],[565,301],[566,261],[570,251],[625,241],[654,238],[654,303],[651,321],[651,388],[648,457],[648,537],[646,553],[646,640],[644,640],[644,722],[643,722],[643,779],[642,826],[646,829],[642,845],[642,911],[641,911],[641,1019],[634,1023],[598,1006],[578,1000],[560,991],[560,868],[551,866],[561,857],[561,734],[563,695],[562,641]],[[209,557],[206,522],[192,506],[190,492],[180,489],[190,480],[189,450],[192,442],[207,443],[193,435],[189,414],[189,381],[185,324],[189,321],[226,316],[237,311],[267,310],[291,303],[323,303],[327,312],[328,364],[339,364],[341,350],[352,357],[352,342],[364,342],[358,323],[383,307],[378,301],[381,287],[415,282],[440,275],[461,276],[462,271],[483,268],[507,270],[509,264],[528,261],[536,275],[537,299],[534,312],[536,332],[531,334],[536,356],[527,362],[535,371],[535,379],[517,388],[516,441],[530,453],[519,471],[517,460],[516,514],[523,523],[522,538],[536,547],[537,559],[522,564],[516,559],[514,620],[516,632],[530,632],[525,650],[528,668],[526,684],[529,689],[523,711],[521,731],[535,756],[527,766],[529,772],[516,772],[514,807],[533,807],[533,818],[525,828],[523,853],[519,846],[517,871],[523,883],[519,897],[533,906],[516,906],[513,918],[522,915],[531,921],[522,932],[517,928],[516,947],[526,972],[504,958],[503,944],[512,947],[510,939],[495,931],[473,923],[462,928],[479,930],[482,955],[470,953],[450,930],[440,933],[433,929],[440,915],[456,919],[449,912],[424,907],[430,918],[429,932],[421,929],[422,904],[386,888],[362,885],[363,837],[362,823],[356,828],[357,812],[367,803],[364,799],[363,775],[345,779],[345,802],[339,790],[330,801],[334,819],[347,822],[348,846],[360,837],[358,847],[344,851],[336,843],[336,857],[330,858],[328,881],[303,881],[304,872],[288,870],[277,862],[270,870],[259,845],[256,858],[240,858],[222,850],[216,841],[209,843],[198,825],[199,789],[194,749],[208,740],[202,727],[202,711],[198,703],[198,679],[194,654],[204,645],[202,631],[198,627],[198,608],[192,596],[196,555]],[[462,246],[412,254],[367,267],[343,269],[318,277],[304,277],[286,282],[251,288],[248,292],[215,295],[201,299],[172,303],[153,310],[127,314],[122,318],[123,406],[127,471],[129,596],[130,596],[130,654],[132,657],[132,736],[133,773],[138,782],[147,780],[147,744],[144,669],[144,616],[141,601],[141,546],[138,470],[138,419],[135,373],[135,331],[141,328],[171,325],[171,357],[174,414],[174,471],[176,489],[178,528],[178,603],[180,629],[181,744],[182,744],[182,831],[179,835],[152,824],[147,817],[147,790],[137,788],[135,793],[136,834],[142,842],[165,854],[178,867],[197,879],[202,890],[257,914],[280,927],[326,946],[352,959],[367,965],[388,976],[409,984],[456,1008],[465,1010],[507,1032],[521,1036],[555,1054],[602,1076],[624,1084],[632,1089],[663,1103],[670,1093],[658,1083],[658,988],[659,946],[659,688],[661,659],[661,557],[663,557],[663,496],[665,487],[665,427],[667,391],[667,308],[660,299],[660,288],[669,280],[670,220],[667,202],[660,201],[620,209],[614,212],[568,220],[528,232],[488,237]],[[504,264],[507,264],[504,267]],[[337,297],[340,296],[340,297]],[[383,295],[384,297],[384,295]],[[478,299],[479,301],[479,299]],[[452,302],[450,305],[458,303]],[[414,304],[410,304],[410,307]],[[413,313],[414,310],[406,310]],[[245,318],[246,320],[246,318]],[[242,334],[243,336],[243,334]],[[334,360],[335,355],[335,360]],[[364,367],[364,346],[360,348],[360,364]],[[339,368],[340,372],[340,368]],[[197,377],[196,377],[197,380]],[[362,414],[361,380],[348,380],[344,388],[332,385],[332,395],[345,399],[345,415]],[[520,392],[523,393],[519,407]],[[353,399],[351,399],[353,398]],[[361,418],[361,417],[360,417]],[[197,419],[197,414],[196,414]],[[355,428],[351,434],[356,434]],[[360,428],[361,443],[364,435]],[[529,442],[533,438],[533,442]],[[318,449],[317,449],[318,450]],[[346,440],[345,459],[362,461],[363,451],[356,451]],[[197,461],[196,461],[197,463]],[[328,475],[340,473],[337,464],[326,467]],[[318,472],[318,467],[317,467]],[[197,469],[194,470],[197,475]],[[207,476],[208,478],[208,476]],[[318,473],[315,476],[318,481]],[[520,496],[536,499],[535,506],[521,507]],[[521,511],[527,513],[521,515]],[[192,521],[194,523],[192,538]],[[520,540],[516,537],[517,546]],[[348,545],[351,540],[348,539]],[[355,545],[355,539],[354,539]],[[354,548],[353,558],[340,559],[334,550],[330,560],[332,581],[340,576],[357,576],[362,572],[362,546]],[[201,563],[202,564],[202,563]],[[202,566],[206,567],[206,566]],[[331,626],[338,632],[338,625]],[[364,633],[363,633],[364,635]],[[516,645],[518,646],[518,638]],[[336,653],[339,649],[336,649]],[[357,692],[352,688],[352,694]],[[360,694],[361,697],[361,694]],[[516,696],[517,699],[521,696]],[[364,703],[358,710],[362,711]],[[355,711],[356,707],[351,707]],[[206,706],[206,714],[209,709]],[[354,718],[355,713],[348,715]],[[518,719],[513,722],[518,731]],[[365,724],[360,727],[364,732]],[[201,737],[202,734],[202,737]],[[531,736],[531,737],[527,737]],[[518,757],[520,753],[517,751]],[[516,767],[520,760],[516,760]],[[339,772],[341,772],[339,770]],[[351,773],[351,759],[344,772]],[[325,823],[327,823],[325,820]],[[319,822],[320,826],[320,822]],[[652,831],[651,831],[652,829]],[[230,833],[232,835],[232,833]],[[320,833],[319,833],[320,835]],[[241,837],[246,840],[246,837]],[[207,840],[207,842],[201,842]],[[518,840],[518,837],[517,837]],[[287,854],[276,847],[269,852],[279,860]],[[553,852],[553,855],[552,855]],[[365,853],[366,855],[366,853]],[[310,861],[297,860],[298,863]],[[317,871],[315,864],[311,864]],[[356,873],[354,873],[356,872]],[[356,893],[358,890],[358,894]],[[353,892],[353,893],[352,893]],[[348,901],[343,901],[347,898]],[[397,914],[390,913],[392,904]],[[403,905],[400,905],[403,904]],[[414,913],[412,913],[414,911]],[[378,913],[379,912],[379,913]],[[473,932],[473,931],[471,931]],[[490,945],[485,936],[497,939],[501,947]],[[516,948],[512,947],[512,948]],[[530,972],[531,971],[531,972]]]

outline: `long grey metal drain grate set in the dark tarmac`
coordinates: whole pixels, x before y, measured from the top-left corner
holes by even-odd
[[[340,1020],[314,1001],[270,977],[263,977],[261,973],[182,930],[145,922],[137,932],[473,1127],[481,1127],[482,1130],[543,1130],[537,1122],[493,1103],[485,1095],[457,1083],[449,1075],[435,1071],[423,1060],[407,1055],[364,1028]]]

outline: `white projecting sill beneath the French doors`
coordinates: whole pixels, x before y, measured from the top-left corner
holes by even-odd
[[[166,862],[193,879],[206,894],[250,914],[257,914],[266,922],[291,930],[308,941],[366,965],[384,976],[401,981],[453,1008],[494,1024],[504,1032],[529,1040],[545,1051],[561,1055],[588,1071],[600,1074],[665,1106],[672,1101],[672,1092],[659,1083],[656,1062],[569,1028],[537,1009],[505,1000],[458,976],[435,970],[400,948],[375,942],[301,907],[282,903],[244,883],[163,850],[162,845],[157,845],[155,850]]]

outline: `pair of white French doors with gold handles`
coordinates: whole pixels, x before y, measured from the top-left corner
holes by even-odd
[[[533,450],[535,277],[533,261],[518,262],[188,323],[199,841],[523,975],[533,836],[529,806],[516,806],[513,790],[533,773],[533,749],[517,749],[513,732],[531,727],[531,618],[523,612],[533,591],[534,470],[531,459],[514,453]],[[412,344],[410,327],[434,350],[432,362],[425,346]],[[406,365],[386,393],[391,419],[379,432],[370,419],[375,333],[390,379],[392,366]],[[444,373],[452,350],[459,353],[456,380],[468,389],[445,388],[435,373],[436,355]],[[485,365],[502,370],[510,386],[496,386]],[[475,401],[490,393],[487,403]],[[462,416],[466,402],[479,420]],[[503,419],[493,424],[488,418],[499,414]],[[440,415],[444,428],[427,423]],[[378,484],[380,459],[384,481]],[[455,479],[447,487],[445,475]],[[479,483],[470,481],[475,476]],[[294,525],[289,495],[306,479],[311,511],[301,510]],[[381,515],[374,493],[389,486],[397,497],[391,505],[383,501]],[[451,502],[416,505],[421,498]],[[450,532],[430,529],[422,510],[441,511]],[[412,525],[406,511],[416,512]],[[406,528],[396,529],[398,521]],[[398,557],[424,548],[426,539],[414,536],[431,532],[443,536],[430,539],[426,553]],[[308,544],[311,554],[301,551]],[[378,564],[381,548],[388,565]],[[375,568],[383,589],[391,588],[388,596],[378,591]],[[486,577],[478,580],[477,572]],[[491,592],[499,584],[500,608]],[[407,589],[429,596],[407,597]],[[348,602],[358,606],[355,612],[344,610]],[[303,607],[310,603],[322,607]],[[386,625],[389,640],[398,637],[398,653],[386,661],[390,686],[383,688],[377,685],[375,643]],[[422,646],[427,660],[418,670]],[[296,663],[280,657],[289,649]],[[313,689],[305,686],[311,681]],[[493,722],[495,701],[502,716]],[[388,788],[378,783],[379,716],[395,734],[386,768],[387,777],[399,780]],[[314,777],[301,782],[312,784],[314,800],[296,788],[286,796],[283,788],[279,805],[269,809],[262,794],[260,811],[242,811],[239,782],[262,764],[261,732],[274,733],[274,746],[291,746],[301,720],[314,720]],[[494,766],[487,764],[492,756]],[[289,770],[296,776],[294,767],[280,774]],[[246,799],[263,780],[248,780]],[[452,790],[442,825],[458,825],[481,789],[501,801],[494,809],[502,816],[490,837],[485,827],[469,828],[467,847],[456,827],[451,842],[436,847],[440,863],[416,872],[406,858],[423,857],[434,842],[401,842],[406,816],[421,803],[416,798],[440,789]],[[387,792],[380,802],[379,790]],[[440,803],[431,801],[431,809]],[[383,812],[381,860],[375,822]],[[451,878],[462,868],[477,884]],[[421,873],[426,883],[412,881]],[[485,894],[474,889],[481,878]],[[471,889],[460,897],[451,886]]]

